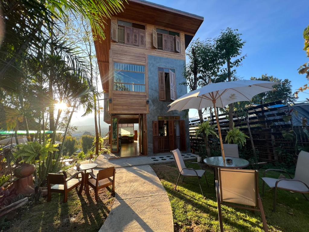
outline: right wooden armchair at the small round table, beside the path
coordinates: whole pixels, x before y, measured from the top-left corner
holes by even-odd
[[[105,168],[99,170],[98,174],[95,176],[93,172],[87,172],[86,174],[86,194],[89,195],[89,185],[95,191],[95,200],[98,200],[98,190],[101,188],[106,188],[112,185],[112,192],[115,192],[115,167]],[[91,176],[89,178],[89,176]],[[113,177],[111,179],[111,177]]]

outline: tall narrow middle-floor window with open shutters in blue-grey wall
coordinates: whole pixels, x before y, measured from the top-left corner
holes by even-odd
[[[176,100],[176,75],[175,69],[158,68],[159,76],[159,101]]]

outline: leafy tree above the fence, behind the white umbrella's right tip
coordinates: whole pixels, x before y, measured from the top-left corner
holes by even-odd
[[[285,103],[291,103],[294,102],[296,99],[292,92],[292,85],[289,79],[282,80],[274,76],[263,74],[261,77],[258,78],[251,77],[251,80],[264,80],[264,81],[282,83],[274,85],[274,89],[276,91],[268,91],[260,93],[255,97],[253,97],[251,102],[254,104],[268,103],[279,100],[282,100]]]

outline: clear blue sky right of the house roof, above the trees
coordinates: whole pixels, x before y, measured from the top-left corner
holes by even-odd
[[[306,84],[297,68],[308,62],[303,30],[309,24],[308,1],[298,0],[152,0],[152,2],[204,17],[196,38],[217,37],[227,27],[238,29],[246,41],[247,58],[237,68],[243,79],[262,74],[290,79],[293,90]],[[306,93],[299,100],[309,98]],[[190,118],[197,116],[190,111]]]

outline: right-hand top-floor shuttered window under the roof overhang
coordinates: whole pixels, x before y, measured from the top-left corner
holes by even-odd
[[[157,28],[153,31],[153,45],[159,50],[180,53],[180,39],[178,32]]]

